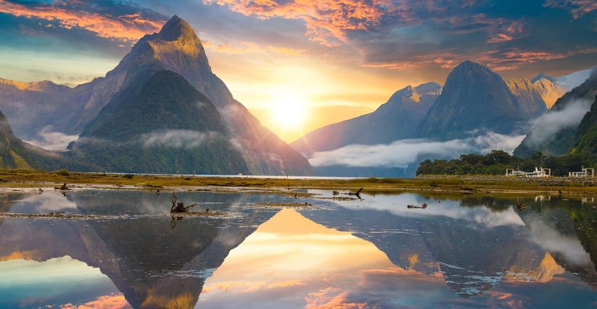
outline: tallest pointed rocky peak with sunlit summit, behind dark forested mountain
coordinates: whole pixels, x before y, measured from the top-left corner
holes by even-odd
[[[96,117],[106,115],[100,111],[111,102],[114,94],[126,90],[139,78],[163,70],[183,76],[216,106],[250,174],[312,174],[306,158],[263,127],[232,97],[223,81],[211,71],[202,43],[193,29],[177,16],[166,22],[159,33],[143,36],[105,77],[66,89],[58,95],[44,92],[48,96],[46,99],[2,100],[0,108],[15,111],[9,115],[11,121],[14,118],[15,122],[27,123],[31,118],[37,119],[29,127],[20,126],[19,136],[33,139],[43,128],[79,135]],[[14,92],[27,91],[11,87]],[[2,92],[0,89],[0,98]],[[27,95],[32,94],[27,92]],[[32,116],[18,115],[24,106],[31,107]]]

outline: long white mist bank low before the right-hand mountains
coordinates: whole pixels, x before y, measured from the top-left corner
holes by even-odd
[[[427,139],[401,139],[391,144],[351,144],[332,151],[313,153],[309,163],[313,166],[346,165],[348,167],[400,167],[406,168],[421,156],[458,158],[463,153],[487,153],[494,149],[511,152],[524,135],[501,135],[487,132],[467,139],[436,142]]]

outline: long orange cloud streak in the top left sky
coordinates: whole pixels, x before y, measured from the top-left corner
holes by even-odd
[[[64,2],[47,6],[25,6],[0,0],[0,13],[8,13],[25,18],[39,18],[58,22],[59,27],[86,29],[107,39],[136,41],[147,33],[156,32],[164,21],[148,20],[140,13],[122,16],[101,15],[80,8],[72,7]]]

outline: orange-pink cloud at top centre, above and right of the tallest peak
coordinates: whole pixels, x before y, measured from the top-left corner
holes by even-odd
[[[228,6],[243,15],[267,19],[283,17],[306,22],[307,36],[324,45],[346,41],[347,30],[367,30],[398,7],[389,0],[296,0],[278,3],[273,0],[204,0],[204,4]]]

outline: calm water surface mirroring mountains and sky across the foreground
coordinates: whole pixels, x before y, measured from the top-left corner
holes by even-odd
[[[362,197],[184,192],[228,216],[173,220],[166,194],[4,193],[98,218],[0,219],[0,308],[597,308],[594,200]]]

